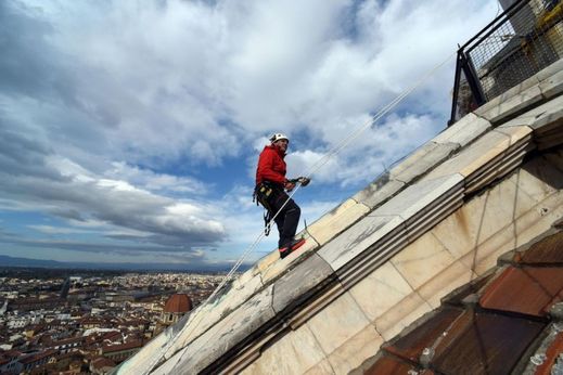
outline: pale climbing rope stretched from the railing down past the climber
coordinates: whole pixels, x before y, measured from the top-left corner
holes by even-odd
[[[322,156],[319,160],[312,164],[312,166],[307,169],[307,171],[303,174],[307,178],[310,178],[317,172],[320,168],[322,168],[331,157],[338,154],[344,147],[346,147],[350,142],[356,140],[363,131],[366,131],[368,128],[372,127],[378,120],[380,120],[383,116],[385,116],[391,109],[393,109],[397,104],[399,104],[405,98],[410,95],[415,89],[418,89],[423,82],[425,82],[430,77],[432,77],[439,68],[442,68],[452,56],[455,56],[456,53],[450,54],[446,60],[444,60],[442,63],[436,65],[434,68],[428,70],[421,79],[419,79],[413,86],[411,86],[409,89],[405,90],[402,93],[397,95],[393,101],[391,101],[387,105],[385,105],[380,112],[378,112],[374,116],[372,116],[368,121],[366,121],[361,127],[356,129],[354,132],[351,132],[347,138],[345,138],[341,143],[338,143],[335,147],[333,147],[329,153],[327,153],[324,156]],[[270,219],[268,223],[271,223],[274,221],[274,219],[278,217],[278,215],[283,210],[285,205],[290,202],[290,199],[297,193],[297,191],[300,188],[300,183],[296,184],[294,190],[291,192],[291,194],[287,196],[287,199],[283,203],[281,208],[276,212],[276,215]],[[206,306],[218,293],[219,290],[231,280],[232,275],[239,270],[242,262],[246,259],[246,257],[254,250],[254,248],[260,243],[261,238],[264,238],[265,232],[260,231],[260,235],[246,248],[246,250],[241,255],[236,263],[232,267],[232,269],[229,271],[229,273],[225,276],[223,281],[217,286],[217,288],[212,293],[209,297],[205,299],[205,301],[201,305],[201,308],[196,311],[194,311],[195,315],[193,318],[193,321],[191,324],[185,323],[185,325],[180,329],[178,334],[175,335],[174,339],[169,340],[166,346],[159,351],[158,355],[153,360],[149,367],[143,371],[141,374],[150,374],[156,364],[164,358],[166,352],[170,349],[171,345],[176,341],[176,338],[181,337],[185,329],[189,327],[192,327],[192,329],[187,334],[187,337],[199,326],[201,323],[201,319],[195,323],[195,319],[200,314],[200,312],[203,310],[203,307]],[[207,341],[203,342],[206,344]],[[181,362],[183,359],[183,355],[185,352],[183,352],[178,361],[176,361],[172,370],[176,367],[178,363]]]

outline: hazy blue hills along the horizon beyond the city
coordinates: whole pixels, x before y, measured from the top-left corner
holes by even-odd
[[[127,270],[127,271],[191,271],[191,272],[219,272],[229,271],[229,264],[190,267],[177,263],[90,263],[90,262],[62,262],[55,260],[41,260],[29,258],[16,258],[0,255],[1,267],[35,267],[57,269],[89,269],[89,270]],[[247,267],[246,267],[247,268]]]

